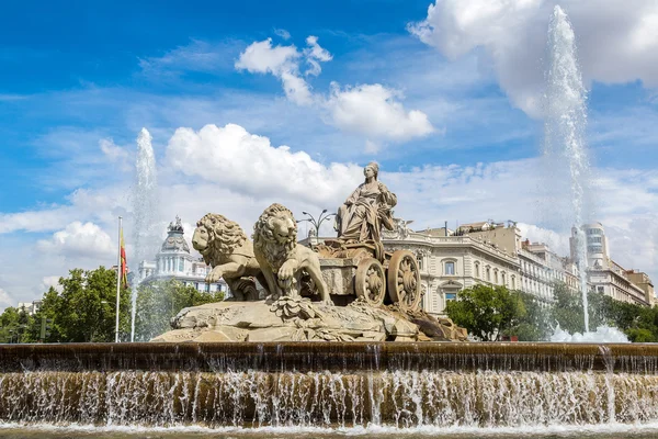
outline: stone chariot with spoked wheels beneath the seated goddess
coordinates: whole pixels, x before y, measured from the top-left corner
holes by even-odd
[[[340,296],[361,297],[367,304],[397,304],[418,311],[422,299],[416,255],[409,250],[384,250],[381,241],[326,240],[314,246],[320,256],[322,278],[334,302]],[[347,302],[345,301],[345,302]]]

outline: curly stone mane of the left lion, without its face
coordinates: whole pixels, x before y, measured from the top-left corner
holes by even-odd
[[[205,263],[215,267],[219,264],[223,255],[230,255],[245,244],[247,235],[236,222],[217,213],[205,214],[196,222],[196,227],[205,227],[208,233],[209,251],[203,255]]]

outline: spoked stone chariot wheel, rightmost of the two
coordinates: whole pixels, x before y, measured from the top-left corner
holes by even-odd
[[[417,311],[422,297],[420,272],[416,256],[409,250],[398,250],[388,262],[388,295],[402,311]]]

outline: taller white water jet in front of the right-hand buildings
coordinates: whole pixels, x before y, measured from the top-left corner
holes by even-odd
[[[548,169],[559,170],[568,182],[569,205],[564,221],[575,227],[575,259],[579,268],[585,330],[589,331],[587,300],[587,244],[582,224],[587,216],[590,191],[590,166],[585,144],[587,125],[587,91],[576,53],[576,35],[567,14],[556,5],[548,26],[548,68],[546,71],[544,156]],[[559,182],[558,182],[559,184]]]

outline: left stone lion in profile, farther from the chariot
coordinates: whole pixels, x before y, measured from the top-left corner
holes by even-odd
[[[192,247],[202,256],[205,263],[213,267],[206,282],[217,282],[224,278],[236,301],[259,299],[256,283],[266,286],[258,260],[253,255],[253,244],[242,228],[223,215],[208,213],[196,222]]]

